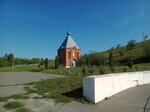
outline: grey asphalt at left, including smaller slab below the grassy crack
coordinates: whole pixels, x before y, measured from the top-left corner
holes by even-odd
[[[44,79],[64,77],[63,75],[34,72],[5,72],[0,73],[0,96],[25,93],[24,85]]]

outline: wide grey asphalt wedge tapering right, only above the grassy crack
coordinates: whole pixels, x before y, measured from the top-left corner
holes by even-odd
[[[25,84],[39,80],[64,77],[63,75],[44,74],[38,72],[5,72],[0,73],[0,86]]]

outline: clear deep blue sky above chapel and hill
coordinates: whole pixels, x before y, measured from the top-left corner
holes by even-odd
[[[141,41],[150,0],[0,0],[0,56],[54,58],[68,29],[82,54]]]

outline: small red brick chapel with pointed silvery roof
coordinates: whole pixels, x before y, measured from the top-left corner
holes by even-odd
[[[71,33],[67,32],[67,37],[58,49],[59,63],[66,68],[75,67],[80,57],[80,48],[77,46]]]

